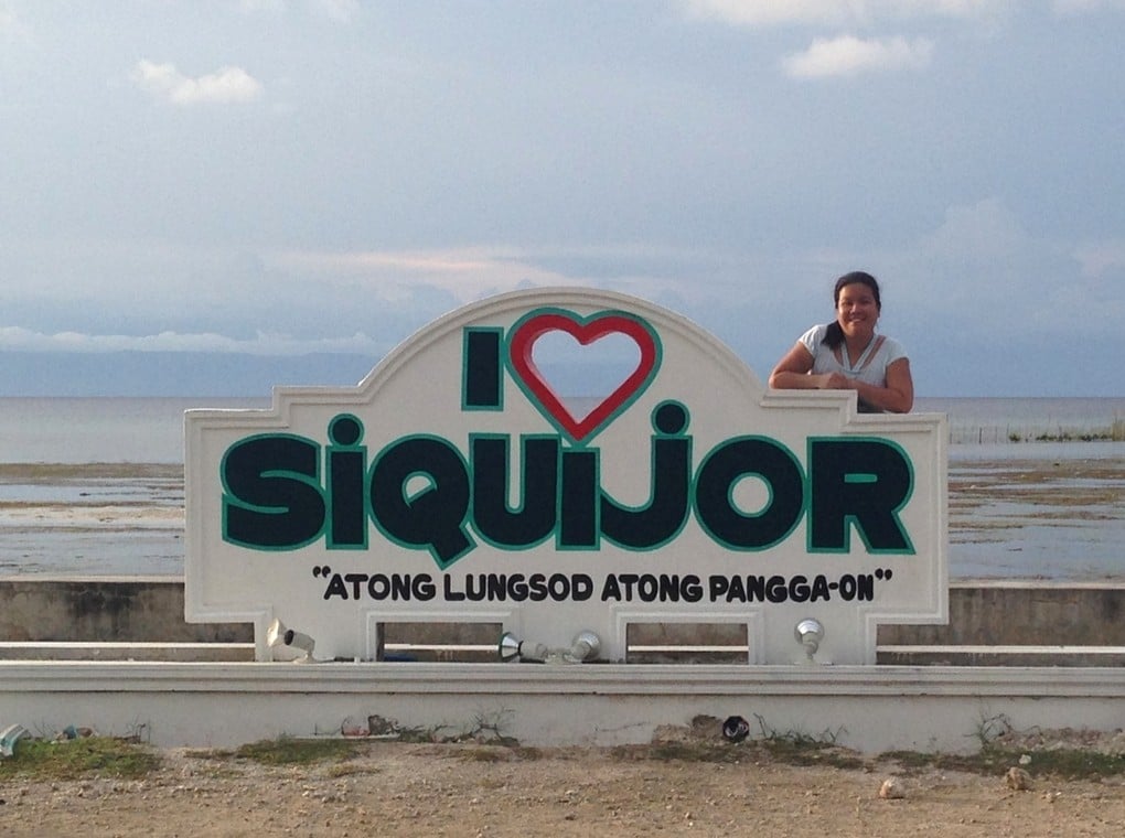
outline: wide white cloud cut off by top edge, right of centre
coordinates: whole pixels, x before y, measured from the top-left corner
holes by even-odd
[[[683,3],[690,15],[736,26],[855,26],[927,17],[988,18],[1014,6],[1012,0],[683,0]]]

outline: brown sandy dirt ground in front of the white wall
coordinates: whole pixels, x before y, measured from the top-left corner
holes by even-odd
[[[713,762],[667,758],[659,742],[530,749],[370,741],[346,759],[280,767],[164,750],[144,780],[3,782],[0,834],[1027,838],[1125,829],[1120,775],[1033,776],[1019,790],[1006,778],[1015,766],[975,774],[888,758],[818,765],[838,762],[829,753],[795,765],[749,742],[727,747]],[[1026,765],[1034,769],[1034,758]],[[881,796],[889,780],[901,796]]]

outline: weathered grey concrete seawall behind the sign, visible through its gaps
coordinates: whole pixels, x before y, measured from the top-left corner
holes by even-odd
[[[1118,666],[1125,664],[1125,584],[957,582],[950,586],[947,625],[882,625],[879,663],[898,665]],[[494,660],[497,627],[393,624],[399,645],[440,646],[420,659]],[[674,640],[722,647],[738,659],[734,627],[691,627]],[[638,645],[667,641],[658,629]],[[176,659],[250,659],[249,623],[187,623],[177,577],[0,578],[0,658],[150,657],[144,645],[166,645]],[[456,648],[466,648],[458,655]],[[231,648],[224,649],[227,646]],[[219,654],[222,652],[222,654]],[[676,660],[672,651],[657,663]],[[690,655],[687,657],[691,657]],[[681,655],[678,659],[683,659]],[[745,658],[744,658],[745,659]],[[708,660],[722,660],[710,657]]]

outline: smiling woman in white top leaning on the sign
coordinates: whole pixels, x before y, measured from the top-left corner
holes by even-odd
[[[910,360],[902,344],[875,333],[882,312],[878,280],[863,271],[845,273],[832,298],[836,319],[801,335],[770,373],[770,386],[855,390],[861,413],[908,413]]]

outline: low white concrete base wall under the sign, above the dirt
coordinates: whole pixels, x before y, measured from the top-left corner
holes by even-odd
[[[979,747],[989,719],[1115,730],[1125,718],[1125,669],[1081,667],[4,661],[0,684],[3,721],[141,730],[169,746],[332,733],[369,715],[446,732],[485,719],[526,745],[616,745],[738,714],[865,753],[958,751]]]

